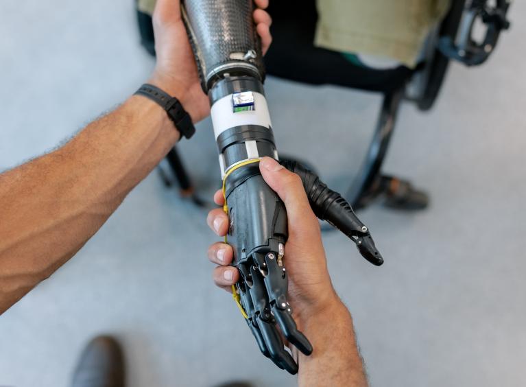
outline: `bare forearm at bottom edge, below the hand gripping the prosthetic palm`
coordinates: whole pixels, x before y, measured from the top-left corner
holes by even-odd
[[[298,385],[368,386],[352,318],[345,305],[336,297],[324,310],[302,320],[303,332],[314,351],[310,356],[299,355]]]

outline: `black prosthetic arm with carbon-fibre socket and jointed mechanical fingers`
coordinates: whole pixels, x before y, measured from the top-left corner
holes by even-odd
[[[253,6],[252,0],[185,0],[182,12],[211,102],[224,210],[230,219],[228,243],[241,274],[234,297],[261,352],[294,374],[298,365],[285,350],[276,325],[305,355],[313,349],[298,331],[287,302],[285,206],[259,172],[261,157],[278,159],[278,153],[263,90]],[[381,265],[368,228],[347,202],[301,165],[285,166],[301,176],[316,215],[351,237],[366,259]]]

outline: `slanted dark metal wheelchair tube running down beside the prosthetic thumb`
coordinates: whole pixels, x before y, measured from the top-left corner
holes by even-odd
[[[382,108],[376,130],[369,145],[366,159],[363,161],[359,175],[352,183],[346,199],[354,209],[359,209],[361,199],[381,176],[381,166],[387,154],[389,143],[396,123],[398,107],[401,104],[405,88],[388,93],[383,98]]]

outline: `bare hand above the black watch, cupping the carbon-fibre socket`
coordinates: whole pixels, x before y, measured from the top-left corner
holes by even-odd
[[[261,37],[263,54],[272,37],[272,19],[265,12],[269,0],[254,0],[256,31]],[[157,0],[154,16],[157,65],[149,83],[176,97],[198,122],[210,114],[210,102],[201,89],[198,68],[181,17],[180,0]]]

